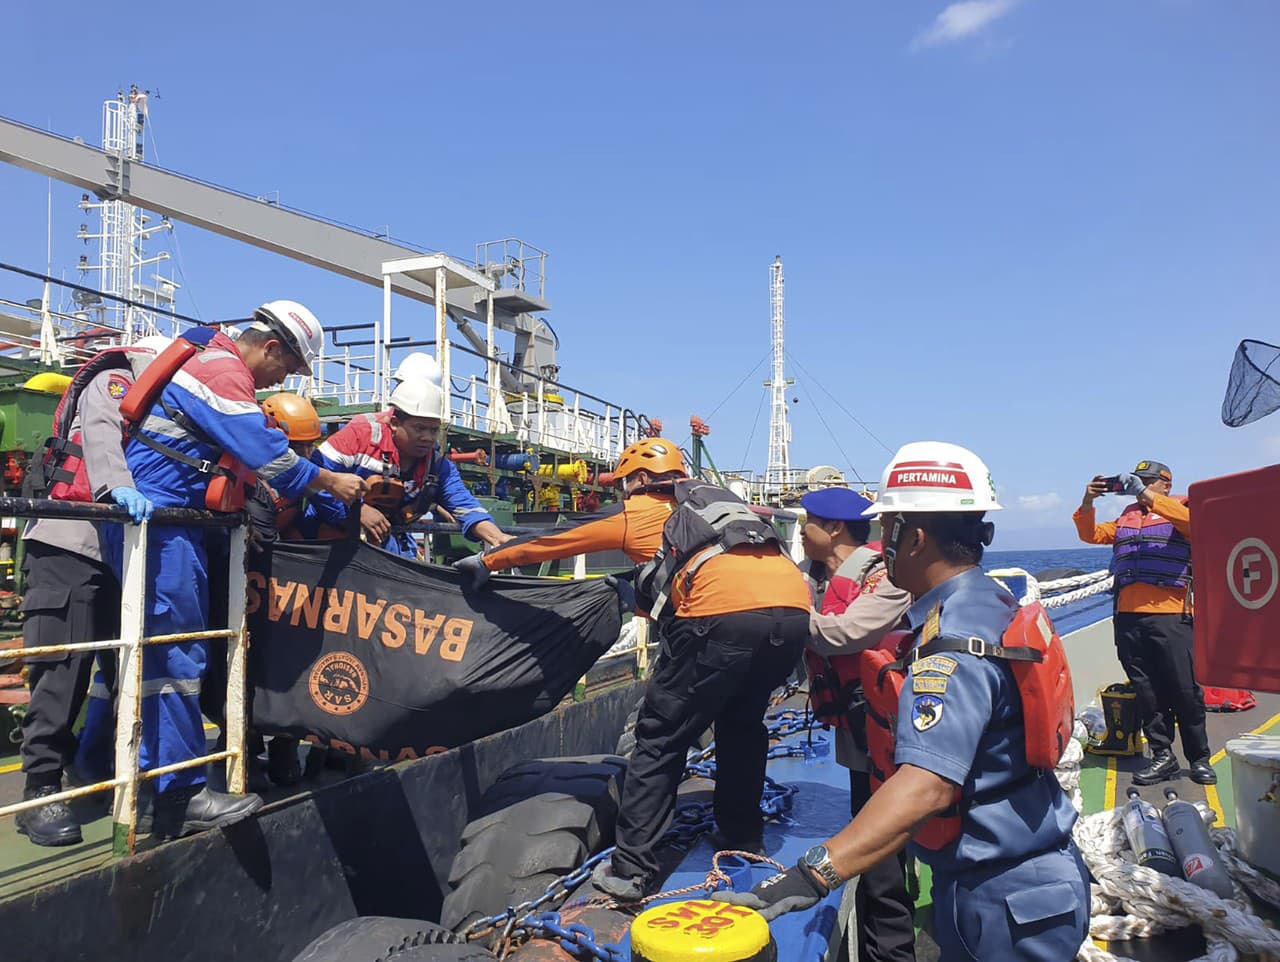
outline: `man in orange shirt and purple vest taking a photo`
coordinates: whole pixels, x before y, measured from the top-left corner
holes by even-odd
[[[1158,461],[1139,461],[1116,481],[1138,500],[1115,521],[1098,522],[1093,501],[1107,493],[1107,478],[1084,489],[1071,521],[1080,540],[1115,545],[1111,571],[1116,583],[1116,655],[1137,692],[1142,728],[1151,742],[1151,764],[1133,780],[1149,785],[1175,778],[1174,719],[1193,782],[1217,782],[1208,764],[1204,692],[1196,682],[1192,614],[1192,516],[1185,496],[1171,496],[1174,473]]]

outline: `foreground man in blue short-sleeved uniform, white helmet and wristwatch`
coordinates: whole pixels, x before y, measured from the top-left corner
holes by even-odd
[[[991,473],[964,448],[908,444],[886,468],[868,513],[886,532],[890,580],[915,597],[913,647],[940,636],[1001,643],[1018,604],[978,567],[993,533],[988,510],[1000,510]],[[1075,958],[1089,921],[1076,815],[1052,773],[1027,764],[1009,661],[968,651],[915,661],[895,736],[895,771],[852,823],[751,892],[716,897],[774,919],[815,906],[910,842],[933,870],[942,962]]]

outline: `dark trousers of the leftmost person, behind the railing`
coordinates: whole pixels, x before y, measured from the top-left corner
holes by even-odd
[[[27,647],[102,641],[120,636],[120,586],[111,569],[42,541],[27,542],[22,640]],[[99,654],[114,678],[115,655]],[[72,727],[84,704],[95,652],[27,660],[31,704],[22,719],[22,770],[27,788],[60,785],[76,757]]]

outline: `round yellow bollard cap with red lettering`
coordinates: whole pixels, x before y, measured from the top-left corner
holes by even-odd
[[[744,906],[667,902],[631,922],[632,962],[772,962],[769,924]]]

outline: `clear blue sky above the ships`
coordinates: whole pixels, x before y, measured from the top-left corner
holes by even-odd
[[[23,0],[0,114],[97,142],[136,82],[163,166],[467,258],[538,244],[563,380],[680,438],[708,417],[722,467],[764,467],[767,365],[709,414],[768,352],[782,255],[792,463],[877,478],[884,445],[972,446],[996,548],[1070,545],[1084,481],[1139,458],[1179,487],[1280,461],[1280,416],[1219,421],[1235,344],[1280,338],[1271,3],[329,8],[134,3],[113,42],[99,4]],[[0,169],[0,260],[44,266],[45,192]],[[87,252],[78,194],[54,188],[55,272]],[[380,313],[178,239],[202,317]]]

